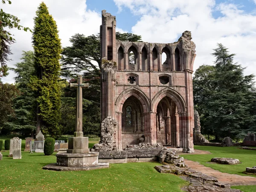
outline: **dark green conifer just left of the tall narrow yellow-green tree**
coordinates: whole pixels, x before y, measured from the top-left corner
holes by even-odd
[[[29,84],[30,76],[35,75],[34,53],[23,51],[22,61],[15,64],[16,68],[11,68],[16,73],[15,84],[19,90],[19,95],[14,99],[15,117],[6,122],[6,127],[10,131],[20,130],[23,133],[35,130],[35,91],[31,90]],[[33,134],[32,134],[33,136]]]

